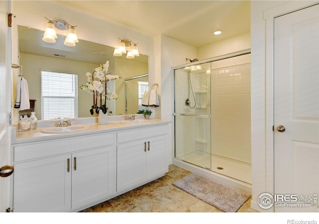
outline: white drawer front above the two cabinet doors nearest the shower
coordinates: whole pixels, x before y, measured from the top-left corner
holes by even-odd
[[[167,134],[167,125],[137,128],[117,132],[117,143],[133,141],[136,139],[149,138],[157,135]]]

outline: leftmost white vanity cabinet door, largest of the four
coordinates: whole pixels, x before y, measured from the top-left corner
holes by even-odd
[[[14,165],[14,212],[71,210],[70,155]]]

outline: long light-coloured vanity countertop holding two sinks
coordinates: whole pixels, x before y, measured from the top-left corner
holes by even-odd
[[[121,123],[120,120],[117,121],[108,121],[107,124],[98,124],[98,123],[85,123],[84,125],[88,126],[88,129],[71,132],[71,133],[58,133],[58,134],[49,134],[41,132],[41,127],[38,127],[35,130],[23,131],[18,132],[15,131],[15,128],[12,129],[12,141],[11,144],[19,144],[19,143],[28,143],[28,142],[36,142],[42,140],[52,140],[52,139],[59,139],[59,138],[66,138],[66,137],[75,137],[87,134],[97,134],[97,133],[104,133],[109,131],[118,131],[118,130],[125,130],[125,129],[132,129],[138,127],[147,127],[147,126],[154,126],[154,125],[161,125],[170,123],[169,120],[162,120],[162,119],[150,119],[150,122],[145,123],[134,123],[134,124],[126,124]],[[72,124],[73,125],[73,124]],[[77,125],[76,123],[74,125]]]

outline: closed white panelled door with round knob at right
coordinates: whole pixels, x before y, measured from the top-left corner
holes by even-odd
[[[275,18],[274,35],[275,212],[319,212],[319,4]]]

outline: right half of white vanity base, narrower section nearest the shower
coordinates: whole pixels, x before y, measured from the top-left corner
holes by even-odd
[[[117,132],[117,191],[128,191],[163,176],[167,125]]]

